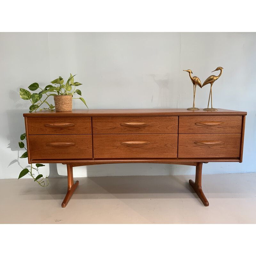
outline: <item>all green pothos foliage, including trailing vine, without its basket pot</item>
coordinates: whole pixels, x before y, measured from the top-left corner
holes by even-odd
[[[76,76],[76,75],[74,75]],[[55,107],[52,104],[49,104],[46,100],[50,97],[50,96],[54,96],[54,95],[72,95],[73,98],[73,94],[77,93],[78,95],[82,95],[81,91],[76,89],[77,86],[82,85],[79,82],[74,82],[74,76],[72,76],[70,74],[66,84],[64,85],[64,80],[61,76],[59,76],[59,78],[53,80],[51,83],[54,84],[55,86],[49,84],[47,86],[45,86],[44,89],[42,89],[41,87],[39,87],[38,83],[33,83],[30,84],[28,86],[28,89],[30,91],[36,91],[37,89],[40,89],[40,92],[38,93],[32,93],[29,92],[26,89],[20,88],[20,98],[23,100],[30,100],[30,102],[32,103],[32,105],[29,107],[29,112],[33,112],[36,110],[55,110]],[[57,85],[57,86],[56,86]],[[45,98],[44,100],[42,100],[43,98],[43,94],[45,94]],[[85,106],[86,102],[82,97],[79,98],[73,98],[73,99],[80,99],[84,102]],[[43,104],[46,104],[48,106],[48,108],[46,107],[41,107]],[[88,108],[88,107],[87,107]],[[20,140],[27,140],[26,139],[26,133],[23,133],[20,135]],[[20,141],[19,142],[19,147],[20,148],[25,148],[25,144]],[[25,148],[26,149],[26,148]],[[27,149],[26,149],[27,150]],[[22,156],[20,156],[20,158],[27,158],[28,157],[28,151],[26,151],[24,154],[22,154]],[[48,181],[48,177],[43,177],[42,174],[39,174],[38,172],[38,168],[41,166],[45,166],[44,164],[36,164],[36,168],[33,167],[32,164],[30,164],[30,170],[28,168],[23,169],[20,172],[19,178],[25,176],[26,174],[29,174],[34,181],[37,181],[38,184],[42,187],[47,187],[49,185],[49,181]],[[35,174],[32,173],[33,170],[36,170],[38,172],[38,175],[36,176]],[[35,177],[36,176],[36,177]],[[47,180],[47,185],[45,184],[45,179]]]

